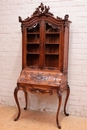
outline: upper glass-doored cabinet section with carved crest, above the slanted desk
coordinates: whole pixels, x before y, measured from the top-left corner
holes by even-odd
[[[29,18],[22,20],[22,68],[67,69],[68,15],[55,18],[50,7],[40,4]]]

